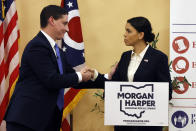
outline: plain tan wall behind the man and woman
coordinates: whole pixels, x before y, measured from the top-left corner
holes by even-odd
[[[60,5],[61,0],[16,0],[21,39],[20,56],[25,45],[39,31],[39,14],[48,4]],[[158,48],[169,53],[169,1],[167,0],[78,0],[85,42],[86,63],[101,73],[119,60],[125,47],[123,34],[126,20],[147,17],[155,33],[160,33]],[[104,126],[103,115],[90,112],[96,101],[89,90],[73,111],[74,131],[112,131]]]

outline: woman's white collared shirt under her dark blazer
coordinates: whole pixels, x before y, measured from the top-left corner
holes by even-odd
[[[137,71],[137,68],[139,67],[148,47],[149,45],[147,45],[146,48],[140,54],[136,54],[134,51],[132,51],[131,60],[128,66],[127,73],[129,82],[133,82],[135,72]]]

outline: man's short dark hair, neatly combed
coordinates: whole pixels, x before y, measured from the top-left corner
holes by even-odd
[[[48,5],[42,9],[40,14],[40,25],[44,28],[48,25],[48,19],[52,16],[55,20],[67,15],[67,10],[57,5]]]

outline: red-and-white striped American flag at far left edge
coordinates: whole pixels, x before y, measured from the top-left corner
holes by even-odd
[[[19,74],[18,15],[14,0],[0,2],[0,125]]]

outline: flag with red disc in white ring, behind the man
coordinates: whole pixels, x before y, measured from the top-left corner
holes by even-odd
[[[85,65],[84,43],[80,24],[77,0],[62,0],[61,7],[68,11],[69,32],[65,34],[62,41],[62,49],[66,54],[67,61],[72,67],[79,71]],[[62,130],[70,131],[70,111],[76,106],[86,90],[69,88],[65,90]]]

